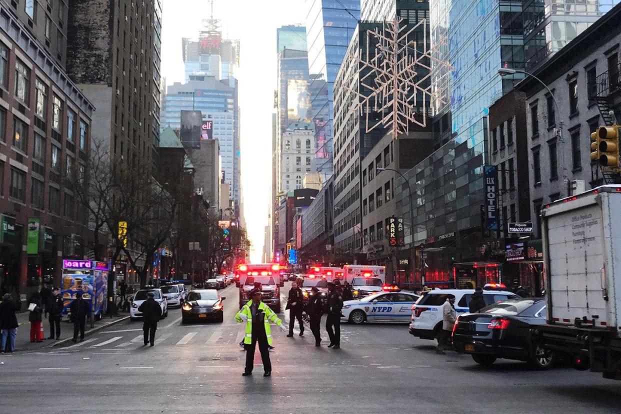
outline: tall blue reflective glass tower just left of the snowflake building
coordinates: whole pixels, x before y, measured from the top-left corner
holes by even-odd
[[[333,173],[333,86],[360,19],[360,1],[306,0],[315,162],[324,182]]]

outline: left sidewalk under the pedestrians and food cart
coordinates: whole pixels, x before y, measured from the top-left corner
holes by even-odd
[[[17,328],[17,338],[15,341],[16,352],[39,351],[40,349],[57,346],[73,339],[73,323],[70,322],[67,315],[63,315],[63,320],[60,322],[60,340],[43,340],[43,342],[31,343],[28,314],[29,312],[17,313],[17,323],[19,323],[19,328]],[[112,318],[104,315],[101,320],[94,321],[93,328],[91,328],[91,323],[87,321],[84,336],[88,336],[90,333],[102,330],[109,325],[114,325],[115,323],[122,322],[128,318],[129,314],[124,312],[119,312],[117,317]],[[47,318],[43,320],[43,331],[45,331],[45,338],[50,336],[50,323]]]

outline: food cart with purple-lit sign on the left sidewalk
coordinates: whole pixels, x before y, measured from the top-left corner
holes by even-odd
[[[60,294],[63,297],[63,314],[69,312],[77,292],[91,304],[93,318],[101,319],[106,312],[108,272],[105,262],[93,260],[63,259],[63,279]]]

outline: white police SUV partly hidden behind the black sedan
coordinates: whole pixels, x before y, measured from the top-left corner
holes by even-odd
[[[410,333],[422,340],[434,340],[442,330],[442,305],[448,295],[455,295],[455,311],[469,313],[468,305],[474,289],[435,289],[424,293],[412,305],[412,322]],[[487,305],[519,296],[504,290],[483,290],[483,298]]]

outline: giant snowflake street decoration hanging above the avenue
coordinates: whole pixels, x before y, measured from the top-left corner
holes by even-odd
[[[366,132],[382,126],[390,128],[392,138],[396,139],[400,134],[409,133],[411,124],[427,125],[430,102],[446,103],[442,88],[448,83],[445,78],[452,70],[440,52],[446,42],[440,40],[428,47],[426,27],[426,19],[410,27],[404,24],[404,19],[392,20],[382,29],[367,30],[364,58],[360,48],[351,56],[360,63],[361,73],[360,92],[352,91],[358,96],[353,110],[366,114]],[[415,31],[423,35],[419,44],[409,40]],[[435,76],[433,82],[432,65],[436,71],[444,69],[437,72],[440,76]],[[371,112],[382,117],[376,122],[369,120]]]

